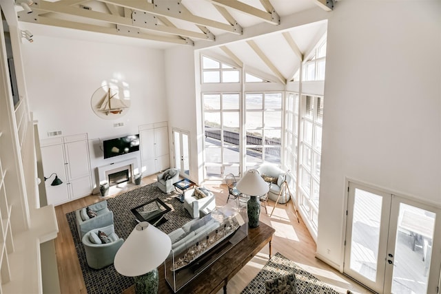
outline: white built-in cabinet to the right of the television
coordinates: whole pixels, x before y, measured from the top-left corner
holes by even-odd
[[[167,122],[139,126],[139,139],[144,176],[170,167]]]

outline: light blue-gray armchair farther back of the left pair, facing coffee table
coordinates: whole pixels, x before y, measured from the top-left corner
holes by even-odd
[[[107,208],[107,200],[89,205],[89,208],[96,211],[94,218],[89,218],[86,212],[87,207],[75,211],[76,229],[81,239],[90,230],[113,224],[113,212]]]

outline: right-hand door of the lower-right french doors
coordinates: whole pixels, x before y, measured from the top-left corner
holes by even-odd
[[[433,207],[394,196],[386,264],[386,280],[391,283],[384,284],[384,293],[435,293],[440,273],[439,259],[431,262],[436,260],[433,246],[438,247],[436,216]],[[432,266],[438,268],[433,273]]]

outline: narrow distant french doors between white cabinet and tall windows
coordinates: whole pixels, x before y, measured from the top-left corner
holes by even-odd
[[[189,177],[189,133],[173,129],[174,166],[181,176]]]

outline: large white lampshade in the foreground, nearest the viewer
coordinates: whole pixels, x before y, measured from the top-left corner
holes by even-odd
[[[172,250],[170,237],[148,222],[140,222],[116,252],[114,266],[127,277],[144,275],[162,264]]]

